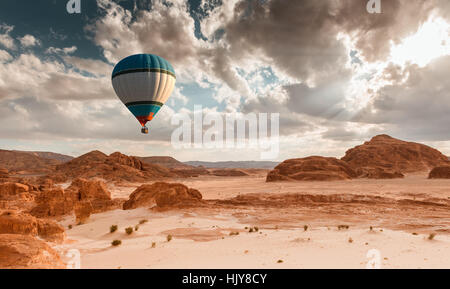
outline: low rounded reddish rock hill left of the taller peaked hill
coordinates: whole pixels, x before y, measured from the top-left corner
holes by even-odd
[[[346,162],[313,156],[282,162],[269,172],[266,181],[334,181],[355,177],[356,172]]]

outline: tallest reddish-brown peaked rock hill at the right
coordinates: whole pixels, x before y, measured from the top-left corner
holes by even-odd
[[[429,171],[448,163],[447,157],[436,149],[388,135],[375,136],[369,142],[348,150],[342,160],[355,169],[377,168],[396,174]]]

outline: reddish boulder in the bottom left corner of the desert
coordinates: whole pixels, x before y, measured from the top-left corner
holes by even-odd
[[[30,235],[0,234],[0,269],[64,269],[58,253]]]

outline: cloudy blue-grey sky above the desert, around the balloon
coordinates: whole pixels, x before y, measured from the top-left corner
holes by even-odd
[[[0,148],[182,161],[259,160],[252,148],[174,148],[174,114],[279,113],[274,161],[345,151],[377,134],[450,155],[450,1],[0,2]],[[142,135],[116,97],[122,58],[152,53],[175,90]]]

